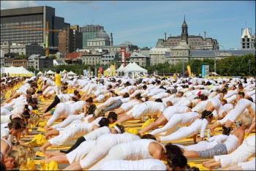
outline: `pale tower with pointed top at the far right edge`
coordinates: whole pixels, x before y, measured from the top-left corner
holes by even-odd
[[[256,34],[251,35],[252,28],[241,29],[241,49],[255,49]]]

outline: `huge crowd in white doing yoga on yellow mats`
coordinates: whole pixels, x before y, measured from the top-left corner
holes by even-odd
[[[40,121],[41,162],[64,170],[198,170],[192,158],[255,170],[254,77],[2,77],[1,170],[26,167],[34,151],[21,139]],[[129,121],[143,127],[129,132]]]

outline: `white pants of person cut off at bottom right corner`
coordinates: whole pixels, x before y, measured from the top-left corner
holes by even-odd
[[[255,135],[249,136],[236,148],[236,151],[227,155],[214,156],[215,161],[220,161],[222,167],[246,161],[250,156],[255,155]]]

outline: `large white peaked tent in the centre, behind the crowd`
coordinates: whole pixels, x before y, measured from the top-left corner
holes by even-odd
[[[124,75],[126,76],[136,77],[138,75],[148,73],[148,70],[143,69],[142,67],[138,66],[138,64],[133,62],[132,64],[127,65],[122,72],[124,72]]]

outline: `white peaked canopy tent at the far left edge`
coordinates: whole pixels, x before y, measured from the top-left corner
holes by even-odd
[[[33,72],[28,71],[23,66],[20,66],[20,67],[15,67],[15,66],[4,67],[4,72],[7,73],[7,75],[9,74],[9,76],[12,76],[12,77],[18,77],[18,76],[31,77],[31,76],[34,75]]]

